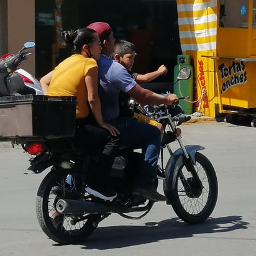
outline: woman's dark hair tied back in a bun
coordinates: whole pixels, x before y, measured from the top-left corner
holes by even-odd
[[[62,32],[62,39],[65,45],[71,48],[71,52],[80,53],[83,45],[93,43],[95,40],[94,34],[97,33],[93,29],[77,29]]]

